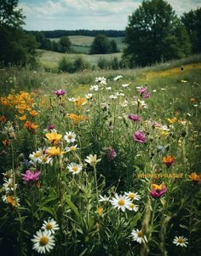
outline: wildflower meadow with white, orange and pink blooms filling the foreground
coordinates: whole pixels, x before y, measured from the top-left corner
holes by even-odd
[[[200,71],[1,69],[1,255],[201,255]]]

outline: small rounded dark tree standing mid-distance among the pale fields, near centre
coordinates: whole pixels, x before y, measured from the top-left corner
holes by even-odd
[[[107,54],[110,52],[110,42],[105,35],[98,34],[95,36],[94,42],[91,44],[90,53]]]

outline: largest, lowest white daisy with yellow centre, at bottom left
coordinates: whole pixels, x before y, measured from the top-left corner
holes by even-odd
[[[37,231],[37,235],[33,236],[33,249],[37,251],[37,253],[46,253],[50,252],[55,247],[55,239],[54,236],[51,235],[49,230],[39,230]]]

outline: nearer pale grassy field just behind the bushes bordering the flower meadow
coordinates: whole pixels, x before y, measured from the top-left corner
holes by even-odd
[[[74,59],[78,54],[63,54],[63,53],[58,53],[55,51],[50,51],[50,50],[41,50],[38,49],[37,52],[41,55],[40,56],[40,61],[43,64],[44,67],[58,67],[59,61],[62,59],[62,57],[66,57],[69,59]],[[86,61],[89,61],[89,63],[93,65],[97,65],[98,60],[100,57],[105,58],[106,60],[111,60],[113,57],[118,57],[118,59],[121,59],[122,53],[113,53],[113,54],[106,54],[106,55],[84,55],[80,54],[83,56],[83,58]]]

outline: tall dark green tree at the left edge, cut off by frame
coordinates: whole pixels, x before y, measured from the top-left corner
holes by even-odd
[[[0,0],[0,62],[35,65],[37,43],[32,34],[22,30],[25,16],[17,5],[17,0]]]

